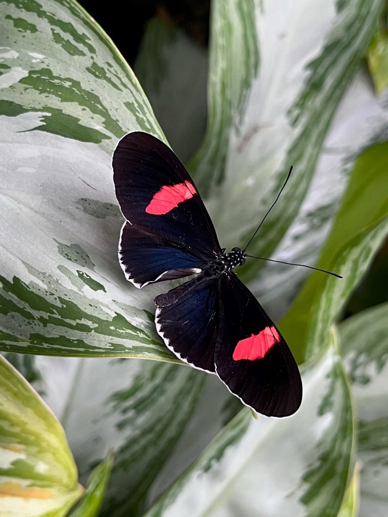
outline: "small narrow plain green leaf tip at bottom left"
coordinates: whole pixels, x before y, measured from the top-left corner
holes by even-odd
[[[97,517],[107,489],[113,457],[109,455],[92,472],[87,480],[86,491],[68,517]]]

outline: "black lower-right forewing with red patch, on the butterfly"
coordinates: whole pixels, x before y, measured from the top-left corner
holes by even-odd
[[[292,415],[302,401],[302,381],[286,341],[235,273],[222,275],[218,287],[217,375],[258,413]]]

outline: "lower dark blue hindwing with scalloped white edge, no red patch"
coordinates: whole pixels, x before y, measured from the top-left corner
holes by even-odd
[[[199,370],[214,373],[218,330],[218,279],[198,277],[155,298],[155,324],[174,354]]]

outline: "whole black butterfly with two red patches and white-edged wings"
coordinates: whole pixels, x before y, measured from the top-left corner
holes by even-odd
[[[279,329],[238,279],[240,248],[221,248],[185,166],[163,142],[129,133],[113,154],[117,201],[126,219],[118,257],[142,288],[196,275],[155,298],[155,325],[182,361],[218,375],[235,396],[267,416],[292,415],[302,381]]]

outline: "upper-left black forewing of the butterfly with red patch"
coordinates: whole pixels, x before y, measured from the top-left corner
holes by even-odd
[[[173,151],[154,136],[129,133],[113,154],[116,197],[138,229],[209,261],[220,246],[198,190]]]

